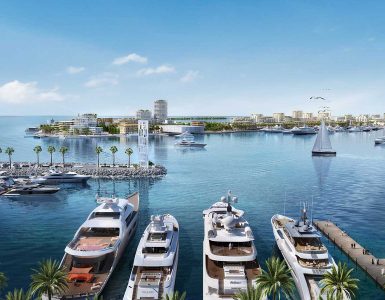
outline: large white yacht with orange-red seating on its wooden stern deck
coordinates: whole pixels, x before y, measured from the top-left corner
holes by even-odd
[[[100,198],[100,204],[65,248],[61,266],[68,289],[57,299],[90,299],[99,295],[114,271],[138,224],[139,195]]]

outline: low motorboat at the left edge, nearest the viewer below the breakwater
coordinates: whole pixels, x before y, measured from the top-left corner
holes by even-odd
[[[0,177],[0,195],[9,198],[42,197],[57,193],[60,188],[34,184],[25,180],[14,180],[10,176]]]

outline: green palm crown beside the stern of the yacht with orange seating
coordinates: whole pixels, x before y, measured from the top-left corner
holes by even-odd
[[[67,272],[59,266],[56,260],[43,260],[39,263],[38,270],[32,270],[31,291],[39,297],[47,295],[48,300],[58,293],[64,292],[68,288]]]

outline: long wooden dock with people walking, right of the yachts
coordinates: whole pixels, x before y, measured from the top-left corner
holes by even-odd
[[[330,241],[337,245],[358,266],[361,267],[382,288],[385,288],[385,259],[377,258],[372,253],[366,252],[359,243],[352,239],[345,231],[330,221],[315,221],[314,225]],[[352,247],[355,244],[355,247]],[[373,263],[374,262],[374,263]],[[378,264],[377,264],[378,262]]]

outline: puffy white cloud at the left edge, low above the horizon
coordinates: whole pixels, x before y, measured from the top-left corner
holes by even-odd
[[[58,89],[42,90],[37,87],[37,82],[20,82],[18,80],[0,85],[0,103],[27,103],[32,101],[61,101],[64,96]]]

